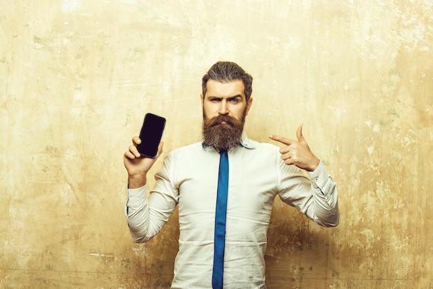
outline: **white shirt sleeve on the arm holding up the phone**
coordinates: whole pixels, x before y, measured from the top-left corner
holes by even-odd
[[[163,188],[162,190],[151,191],[147,198],[146,186],[128,189],[125,214],[135,243],[152,239],[176,209],[178,196],[169,181],[166,160],[163,169],[155,175],[155,187]]]

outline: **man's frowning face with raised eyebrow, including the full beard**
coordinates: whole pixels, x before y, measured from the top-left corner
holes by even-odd
[[[209,80],[203,106],[203,142],[218,151],[228,151],[241,142],[243,124],[252,99],[246,101],[243,82]]]

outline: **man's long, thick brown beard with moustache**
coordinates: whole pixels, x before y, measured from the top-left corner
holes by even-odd
[[[245,124],[246,111],[241,120],[228,115],[218,115],[206,118],[203,111],[203,142],[214,147],[217,151],[228,151],[241,143],[243,124]],[[221,124],[225,122],[225,124]]]

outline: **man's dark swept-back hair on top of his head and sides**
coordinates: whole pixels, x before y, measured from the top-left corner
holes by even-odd
[[[203,75],[201,81],[203,97],[206,95],[208,80],[216,80],[217,82],[242,80],[243,86],[245,86],[243,93],[245,93],[246,101],[248,102],[250,99],[252,93],[252,76],[234,62],[216,62],[216,64],[212,65],[209,71]]]

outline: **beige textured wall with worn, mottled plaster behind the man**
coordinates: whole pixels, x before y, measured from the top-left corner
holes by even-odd
[[[122,153],[147,111],[165,153],[199,140],[220,59],[255,77],[248,135],[304,124],[339,185],[336,228],[275,203],[268,288],[433,288],[433,1],[0,7],[1,288],[169,286],[177,216],[132,243]]]

